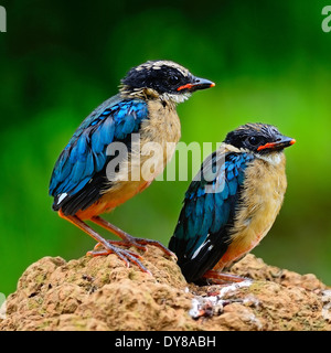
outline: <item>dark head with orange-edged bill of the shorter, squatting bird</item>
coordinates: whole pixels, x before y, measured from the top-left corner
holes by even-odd
[[[246,124],[228,132],[224,142],[242,151],[266,157],[281,152],[286,147],[292,146],[296,140],[284,136],[273,125]]]

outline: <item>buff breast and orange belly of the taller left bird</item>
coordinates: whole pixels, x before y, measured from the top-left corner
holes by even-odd
[[[150,185],[169,162],[181,137],[180,120],[174,105],[160,100],[148,103],[149,118],[140,127],[137,145],[120,164],[116,180],[94,205],[94,214],[109,212]],[[86,213],[86,212],[85,212]],[[82,214],[88,218],[89,213]]]

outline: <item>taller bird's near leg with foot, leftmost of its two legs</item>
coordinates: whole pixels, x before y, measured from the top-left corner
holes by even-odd
[[[87,254],[94,255],[94,256],[116,254],[126,264],[127,267],[129,267],[129,263],[132,263],[132,264],[137,265],[140,268],[140,270],[142,270],[143,272],[151,275],[151,272],[140,263],[139,259],[141,259],[141,256],[139,256],[132,252],[125,250],[125,249],[121,249],[121,248],[115,246],[115,244],[122,245],[124,242],[108,242],[108,240],[106,240],[105,238],[103,238],[98,233],[96,233],[93,228],[90,228],[86,223],[84,223],[77,216],[66,216],[63,214],[62,211],[58,211],[58,215],[62,218],[71,222],[75,226],[77,226],[79,229],[82,229],[83,232],[85,232],[89,236],[92,236],[96,242],[98,242],[98,244],[102,244],[105,248],[105,250],[88,252]]]

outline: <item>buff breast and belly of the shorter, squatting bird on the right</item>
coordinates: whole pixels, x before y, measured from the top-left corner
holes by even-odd
[[[247,167],[229,246],[215,269],[222,270],[258,245],[279,213],[286,188],[282,153],[277,164],[255,159]]]

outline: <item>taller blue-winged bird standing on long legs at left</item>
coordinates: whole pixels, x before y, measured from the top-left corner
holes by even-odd
[[[55,162],[49,193],[53,210],[97,242],[88,255],[116,254],[127,266],[136,264],[145,272],[149,271],[141,256],[124,247],[146,250],[150,244],[172,255],[161,243],[134,237],[99,215],[143,191],[162,172],[174,152],[174,147],[166,149],[167,143],[175,146],[181,137],[177,105],[193,92],[214,85],[172,61],[148,61],[129,69],[118,94],[93,110],[73,133]],[[138,142],[134,140],[137,135]],[[149,142],[159,143],[164,152],[159,153],[154,170],[143,179],[141,169],[150,152]],[[126,158],[118,146],[126,150]],[[128,178],[122,170],[129,170]],[[105,239],[85,221],[121,240]]]

